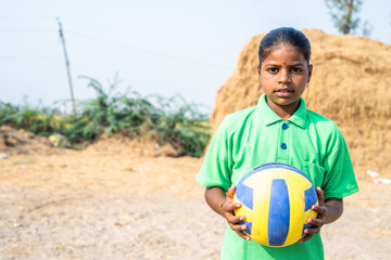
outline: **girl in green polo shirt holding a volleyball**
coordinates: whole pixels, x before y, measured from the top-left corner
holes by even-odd
[[[311,44],[303,32],[277,28],[261,41],[257,67],[264,94],[257,106],[226,116],[216,130],[197,181],[206,187],[205,200],[228,222],[222,259],[324,259],[319,235],[336,221],[342,198],[358,191],[345,141],[328,118],[305,108],[301,98],[313,65]],[[289,164],[312,180],[318,195],[314,226],[300,242],[281,248],[262,246],[238,224],[235,185],[252,168],[266,162]]]

